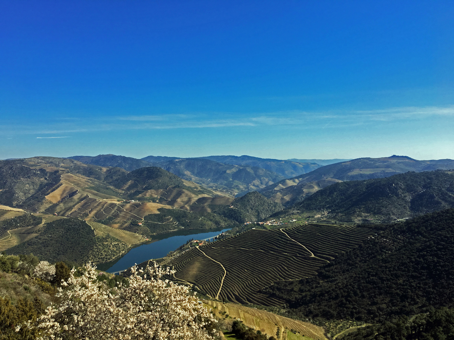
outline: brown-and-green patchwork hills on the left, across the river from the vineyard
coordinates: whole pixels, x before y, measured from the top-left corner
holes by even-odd
[[[281,209],[257,195],[262,200],[242,199],[247,215],[241,221]],[[109,262],[159,233],[234,227],[237,219],[210,209],[227,209],[233,200],[159,167],[127,171],[54,157],[4,160],[0,250],[39,253],[49,261]]]

